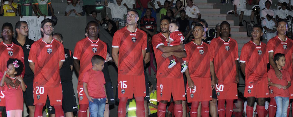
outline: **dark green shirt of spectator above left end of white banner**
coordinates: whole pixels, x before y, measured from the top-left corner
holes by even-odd
[[[32,16],[32,5],[34,0],[18,0],[17,5],[21,5],[21,14],[23,16]]]

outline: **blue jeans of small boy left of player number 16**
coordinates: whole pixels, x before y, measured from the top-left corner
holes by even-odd
[[[90,117],[103,117],[106,105],[106,98],[95,98],[94,102],[89,101]]]

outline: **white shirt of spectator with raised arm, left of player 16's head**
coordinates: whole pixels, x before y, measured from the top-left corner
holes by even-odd
[[[120,6],[115,3],[108,3],[107,7],[111,9],[112,18],[124,19],[124,14],[127,14],[127,8],[122,3]]]

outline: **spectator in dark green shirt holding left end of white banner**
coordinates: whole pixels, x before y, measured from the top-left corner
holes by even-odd
[[[19,0],[17,2],[18,15],[22,16],[32,16],[32,11],[36,13],[35,2],[32,0]],[[38,16],[36,14],[36,16]]]

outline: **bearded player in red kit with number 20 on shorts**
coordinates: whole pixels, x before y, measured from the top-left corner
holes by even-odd
[[[56,117],[64,116],[62,110],[62,87],[59,69],[65,61],[63,45],[52,38],[54,27],[51,19],[41,22],[43,37],[31,45],[28,56],[29,66],[34,77],[34,116],[43,116],[43,106],[49,96],[55,108]]]

